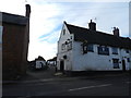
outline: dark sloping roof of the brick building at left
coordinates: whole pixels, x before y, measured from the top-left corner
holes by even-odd
[[[17,25],[26,25],[28,17],[2,12],[2,22]]]

